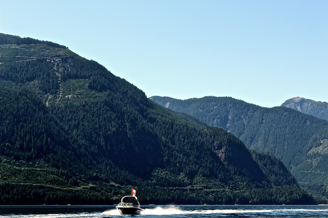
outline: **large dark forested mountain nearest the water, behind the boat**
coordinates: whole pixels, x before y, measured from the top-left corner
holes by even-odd
[[[0,34],[0,204],[313,204],[276,157],[56,43]]]

